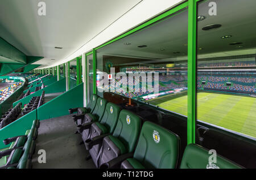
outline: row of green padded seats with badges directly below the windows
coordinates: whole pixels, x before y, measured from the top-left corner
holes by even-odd
[[[138,115],[96,95],[90,102],[90,111],[84,112],[91,113],[80,114],[77,128],[97,168],[242,168],[218,154],[212,161],[209,150],[196,144],[180,154],[180,137],[174,132],[147,121],[141,127]]]

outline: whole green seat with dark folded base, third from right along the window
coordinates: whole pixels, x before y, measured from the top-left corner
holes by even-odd
[[[121,162],[132,157],[141,131],[141,118],[127,110],[121,110],[117,125],[112,135],[103,139],[97,156],[97,168],[106,168],[106,163],[113,164],[111,168],[119,168]]]

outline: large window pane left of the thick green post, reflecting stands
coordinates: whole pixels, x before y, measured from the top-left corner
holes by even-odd
[[[97,50],[98,95],[112,92],[187,115],[188,11]]]

